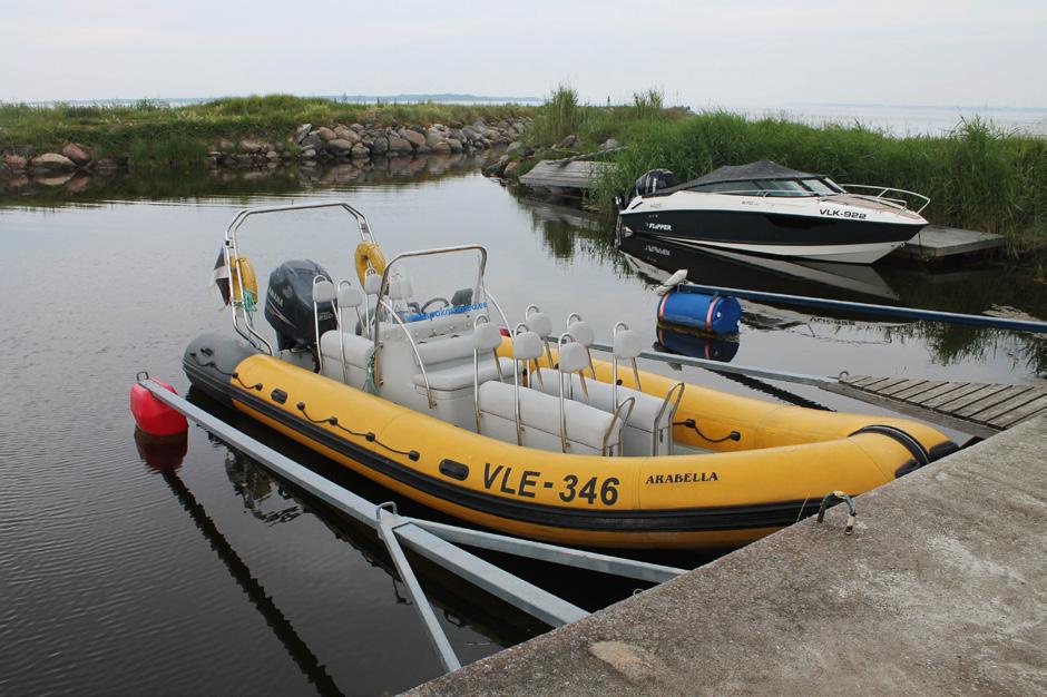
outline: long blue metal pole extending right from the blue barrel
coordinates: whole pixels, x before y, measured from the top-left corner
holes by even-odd
[[[675,288],[679,293],[705,293],[710,295],[734,295],[751,301],[781,303],[783,305],[800,305],[805,307],[820,307],[823,310],[844,310],[869,315],[883,315],[901,317],[904,320],[929,320],[931,322],[947,322],[949,324],[966,324],[994,330],[1011,330],[1016,332],[1047,333],[1047,322],[1028,320],[1007,320],[1005,317],[990,317],[988,315],[967,315],[956,312],[939,312],[937,310],[918,310],[916,307],[893,307],[891,305],[872,305],[868,303],[852,303],[848,301],[832,301],[823,297],[809,297],[805,295],[785,295],[782,293],[764,293],[762,291],[746,291],[744,288],[722,288],[694,283],[684,283]]]

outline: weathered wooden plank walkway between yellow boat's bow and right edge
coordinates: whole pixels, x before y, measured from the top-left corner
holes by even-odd
[[[984,436],[1047,413],[1037,385],[850,375],[825,389]]]

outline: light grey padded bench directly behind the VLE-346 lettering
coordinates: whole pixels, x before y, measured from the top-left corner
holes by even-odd
[[[555,381],[554,381],[555,382]],[[520,422],[525,434],[528,429],[536,429],[559,442],[560,415],[559,400],[530,387],[520,387]],[[509,383],[497,380],[480,385],[480,412],[516,421],[516,396]],[[580,402],[567,401],[564,404],[567,421],[567,440],[599,452],[604,448],[604,438],[613,446],[622,432],[622,420],[613,414],[587,406]],[[610,434],[607,430],[611,429]],[[525,439],[527,436],[525,435]],[[529,443],[525,440],[525,445]]]

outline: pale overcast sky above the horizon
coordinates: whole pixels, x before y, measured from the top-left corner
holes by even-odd
[[[1047,1],[0,0],[0,101],[661,89],[694,108],[1047,107]]]

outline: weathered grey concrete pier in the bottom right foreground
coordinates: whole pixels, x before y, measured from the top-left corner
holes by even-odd
[[[1047,694],[1047,415],[855,501],[413,694]]]

